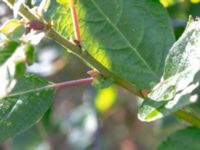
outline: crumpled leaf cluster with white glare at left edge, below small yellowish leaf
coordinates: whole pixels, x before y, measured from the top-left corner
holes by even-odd
[[[24,76],[25,63],[33,63],[34,47],[12,40],[1,41],[0,44],[0,98],[3,98],[12,91],[17,80]]]

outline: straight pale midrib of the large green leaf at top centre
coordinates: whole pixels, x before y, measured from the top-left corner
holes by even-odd
[[[135,47],[132,46],[132,44],[129,42],[129,40],[125,37],[125,35],[120,31],[120,29],[112,23],[112,21],[110,20],[110,18],[108,16],[106,16],[106,14],[103,12],[103,10],[98,6],[98,4],[94,1],[91,0],[91,2],[93,3],[93,5],[97,8],[97,10],[99,11],[99,13],[105,18],[105,20],[117,31],[117,33],[119,35],[121,35],[121,37],[123,38],[123,40],[128,44],[128,46],[132,49],[132,51],[135,52],[135,54],[139,57],[139,59],[144,63],[144,65],[146,66],[146,68],[152,73],[152,75],[156,78],[159,79],[159,76],[154,72],[154,70],[148,65],[148,63],[145,61],[145,59],[140,55],[140,53],[137,51],[137,49]]]

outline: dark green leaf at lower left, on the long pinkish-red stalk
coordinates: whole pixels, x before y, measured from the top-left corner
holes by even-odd
[[[26,75],[19,80],[11,95],[0,99],[0,140],[23,132],[41,119],[54,94],[52,88],[41,89],[46,85],[46,80]]]

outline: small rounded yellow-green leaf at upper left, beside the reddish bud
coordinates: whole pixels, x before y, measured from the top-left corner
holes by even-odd
[[[8,20],[0,28],[0,33],[6,35],[9,39],[18,40],[25,32],[25,27],[18,20]]]

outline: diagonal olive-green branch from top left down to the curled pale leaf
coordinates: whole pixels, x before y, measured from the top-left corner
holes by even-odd
[[[13,8],[14,2],[12,0],[3,0],[6,2],[11,8]],[[29,21],[38,20],[35,14],[33,14],[30,9],[26,5],[21,5],[19,9],[19,14],[28,19]],[[46,23],[46,22],[44,22]],[[67,40],[64,36],[59,34],[54,28],[50,28],[48,33],[48,37],[62,45],[64,48],[69,49],[73,54],[81,58],[84,62],[89,64],[92,68],[97,69],[105,78],[113,78],[114,81],[119,84],[120,86],[124,87],[128,91],[134,93],[139,97],[143,97],[140,89],[138,89],[135,85],[131,84],[127,80],[124,80],[120,76],[114,74],[106,67],[104,67],[101,63],[99,63],[96,59],[94,59],[87,51],[82,50],[80,46],[77,46]]]

